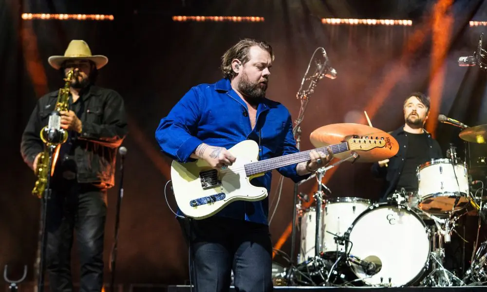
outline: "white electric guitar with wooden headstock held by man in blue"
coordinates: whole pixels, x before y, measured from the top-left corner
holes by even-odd
[[[368,151],[386,146],[384,137],[352,137],[345,142],[330,145],[333,154],[350,150]],[[326,147],[316,148],[327,153]],[[273,169],[310,160],[309,152],[302,151],[258,161],[259,146],[245,140],[228,149],[237,158],[232,166],[214,169],[204,160],[171,164],[171,180],[179,209],[193,219],[205,219],[222,210],[233,201],[260,201],[267,197],[264,187],[250,183]]]

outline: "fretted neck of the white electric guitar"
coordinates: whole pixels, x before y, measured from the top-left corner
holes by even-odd
[[[333,154],[350,150],[347,142],[331,145],[330,148]],[[316,148],[313,150],[328,154],[327,147]],[[256,161],[256,162],[245,164],[244,165],[245,174],[247,176],[251,176],[258,173],[267,172],[279,167],[308,161],[310,160],[309,153],[311,151],[312,150],[306,150],[298,153],[288,154],[280,157],[275,157],[275,158],[270,158],[262,161]]]

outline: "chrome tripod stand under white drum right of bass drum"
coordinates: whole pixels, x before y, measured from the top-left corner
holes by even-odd
[[[433,271],[431,271],[431,273],[421,281],[421,285],[426,287],[451,287],[465,285],[465,283],[459,277],[445,269],[443,266],[445,259],[445,249],[443,248],[443,244],[450,242],[451,232],[453,231],[455,221],[458,218],[452,219],[451,216],[453,213],[450,213],[449,219],[438,219],[437,217],[424,211],[422,211],[422,213],[433,219],[436,226],[431,227],[433,242],[430,256],[432,259]],[[444,225],[444,229],[440,224]],[[436,237],[438,237],[438,241],[436,240]]]

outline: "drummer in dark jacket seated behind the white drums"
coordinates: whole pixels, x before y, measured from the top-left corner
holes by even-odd
[[[442,158],[440,145],[424,129],[430,112],[430,97],[414,92],[406,98],[403,110],[405,124],[391,133],[399,144],[399,151],[392,158],[372,165],[372,174],[385,178],[379,201],[387,201],[402,188],[408,193],[417,192],[417,167],[431,159]]]

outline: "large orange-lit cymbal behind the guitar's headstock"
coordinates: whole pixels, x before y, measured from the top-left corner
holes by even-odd
[[[373,142],[374,140],[384,142],[384,146],[377,146],[370,150],[354,149],[359,155],[356,162],[381,161],[393,157],[399,151],[399,144],[391,134],[378,128],[361,124],[343,123],[323,126],[315,129],[311,133],[310,140],[313,146],[319,148],[339,144],[348,138],[352,138],[353,135],[358,135],[359,139],[371,139]],[[334,156],[338,159],[344,159],[350,157],[350,152],[351,150],[348,150],[337,153]]]

